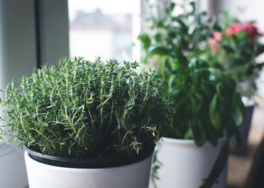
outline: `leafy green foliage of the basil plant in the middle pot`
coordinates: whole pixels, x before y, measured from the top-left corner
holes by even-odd
[[[174,15],[177,6],[180,5],[170,3],[162,16],[150,15],[149,32],[138,36],[145,64],[156,69],[165,84],[165,93],[176,102],[172,124],[163,135],[193,139],[197,146],[203,146],[206,141],[216,146],[223,136],[236,136],[240,141],[238,127],[244,119],[244,105],[236,91],[236,82],[231,75],[215,68],[221,65],[214,63],[222,33],[215,32],[214,38],[208,40],[213,36],[211,26],[217,24],[206,13],[197,12],[194,2],[190,3],[190,10]],[[211,48],[215,48],[215,53],[207,50],[208,41],[213,42]],[[200,188],[213,187],[217,182],[227,161],[227,143]],[[154,178],[159,168],[155,164]]]

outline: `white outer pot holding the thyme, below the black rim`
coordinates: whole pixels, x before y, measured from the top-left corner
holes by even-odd
[[[152,155],[140,162],[106,169],[75,169],[37,162],[25,152],[30,188],[147,188]]]

